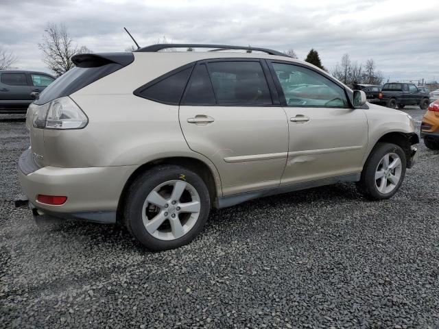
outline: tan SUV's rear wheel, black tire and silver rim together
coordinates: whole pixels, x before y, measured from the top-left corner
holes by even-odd
[[[202,230],[210,208],[209,190],[200,176],[185,167],[163,165],[134,180],[123,215],[128,231],[142,245],[161,251],[190,243]]]

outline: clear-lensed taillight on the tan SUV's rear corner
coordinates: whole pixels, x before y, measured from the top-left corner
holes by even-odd
[[[60,97],[44,105],[32,104],[32,124],[43,129],[80,129],[88,118],[70,97]]]

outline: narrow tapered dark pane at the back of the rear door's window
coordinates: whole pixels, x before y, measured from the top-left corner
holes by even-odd
[[[206,105],[215,104],[215,95],[211,79],[205,64],[199,64],[193,69],[191,80],[187,86],[185,99],[182,101],[185,105]]]

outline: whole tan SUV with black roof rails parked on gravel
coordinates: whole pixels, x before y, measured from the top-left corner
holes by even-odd
[[[22,189],[36,217],[122,221],[150,249],[189,243],[211,207],[265,195],[357,182],[389,198],[416,155],[410,116],[270,49],[73,62],[29,106]]]

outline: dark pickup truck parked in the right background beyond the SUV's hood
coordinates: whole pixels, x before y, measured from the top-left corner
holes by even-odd
[[[418,105],[427,110],[430,100],[429,93],[419,90],[414,84],[390,82],[384,84],[379,93],[380,103],[388,108],[404,108],[406,105]]]

